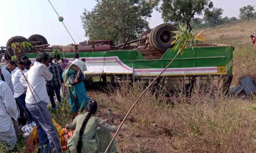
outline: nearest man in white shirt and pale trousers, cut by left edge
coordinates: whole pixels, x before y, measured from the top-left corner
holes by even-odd
[[[0,144],[7,143],[7,150],[13,149],[17,142],[12,119],[18,119],[13,93],[7,83],[0,80]]]

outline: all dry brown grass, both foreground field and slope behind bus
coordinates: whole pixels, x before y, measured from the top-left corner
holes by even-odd
[[[249,38],[256,32],[255,23],[205,29],[209,42],[235,47],[232,85],[240,84],[239,78],[245,75],[256,79],[256,51]],[[108,93],[88,92],[88,95],[99,104],[97,115],[106,118],[107,109],[111,108],[118,125],[142,89],[140,83],[124,84]],[[181,94],[172,96],[172,104],[163,94],[156,98],[147,92],[118,134],[120,153],[256,152],[256,97],[241,100],[226,98],[218,92],[215,95],[220,96],[212,98],[209,93],[195,89],[189,99]],[[61,126],[71,122],[67,105],[52,114]],[[20,141],[14,152],[24,152],[24,148],[24,141]]]

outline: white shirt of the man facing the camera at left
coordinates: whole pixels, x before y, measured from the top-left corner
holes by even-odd
[[[25,91],[24,86],[21,84],[19,79],[21,78],[22,73],[18,67],[11,71],[11,81],[14,85],[14,98],[17,98],[23,94]]]

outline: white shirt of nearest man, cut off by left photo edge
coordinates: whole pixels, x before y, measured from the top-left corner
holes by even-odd
[[[8,84],[0,80],[0,132],[10,130],[11,117],[18,119],[16,102]]]

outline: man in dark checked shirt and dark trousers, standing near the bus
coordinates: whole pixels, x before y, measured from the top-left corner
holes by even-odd
[[[47,87],[49,91],[51,107],[55,109],[56,104],[54,101],[54,93],[56,93],[58,102],[61,103],[61,97],[60,97],[61,81],[60,81],[60,72],[58,70],[58,65],[52,62],[52,58],[50,58],[50,65],[48,69],[53,74],[53,79],[51,79],[50,81],[47,81]]]

